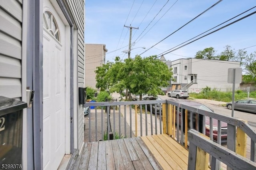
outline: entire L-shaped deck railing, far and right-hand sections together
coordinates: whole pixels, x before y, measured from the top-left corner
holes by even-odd
[[[194,142],[190,141],[193,138],[188,138],[190,128],[201,134],[207,134],[212,141],[217,131],[216,144],[221,146],[225,139],[223,136],[226,135],[225,142],[228,150],[244,157],[246,157],[246,139],[248,136],[250,138],[249,159],[255,162],[256,133],[245,121],[240,119],[197,109],[172,100],[96,102],[86,103],[85,106],[95,107],[95,109],[89,110],[89,123],[85,125],[89,131],[89,136],[85,137],[88,137],[89,141],[98,140],[98,135],[100,135],[99,138],[103,139],[104,133],[107,136],[105,139],[108,140],[111,138],[110,134],[113,134],[113,139],[115,139],[115,134],[134,137],[166,133],[188,148],[189,143]],[[105,107],[109,114],[104,112]],[[110,109],[111,107],[113,109]],[[116,107],[118,110],[115,110]],[[98,117],[100,117],[100,123],[97,122]],[[206,125],[206,119],[209,121],[209,125]],[[214,119],[218,121],[217,127],[213,126]],[[92,127],[93,120],[94,127]],[[226,123],[227,127],[222,127],[222,122]],[[93,129],[96,132],[93,134],[95,138],[92,138],[92,128],[95,128]],[[98,130],[98,128],[101,129]],[[221,161],[221,159],[212,156],[210,166],[220,169],[219,160]],[[208,160],[206,164],[208,164]]]

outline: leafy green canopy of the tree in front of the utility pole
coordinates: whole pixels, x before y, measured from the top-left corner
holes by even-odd
[[[156,59],[156,55],[142,58],[137,55],[134,59],[120,60],[116,57],[114,63],[106,63],[97,67],[96,87],[109,89],[110,92],[129,89],[130,93],[157,96],[162,92],[161,87],[167,87],[172,78],[168,66]]]

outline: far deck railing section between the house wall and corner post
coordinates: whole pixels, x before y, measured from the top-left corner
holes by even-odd
[[[86,103],[88,141],[162,134],[162,103],[165,100]],[[93,107],[93,109],[91,109]],[[105,111],[106,110],[106,111]],[[108,114],[107,114],[108,113]],[[154,113],[157,113],[155,116]],[[100,122],[99,122],[100,121]],[[93,125],[94,124],[94,125]],[[95,134],[92,134],[95,131]],[[100,135],[100,136],[99,136]]]

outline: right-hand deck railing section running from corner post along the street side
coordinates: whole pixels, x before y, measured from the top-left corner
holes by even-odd
[[[164,131],[164,133],[166,132],[167,134],[175,138],[178,142],[180,142],[180,144],[184,145],[186,148],[188,148],[188,143],[191,142],[191,140],[193,140],[191,138],[190,139],[188,138],[188,130],[190,127],[192,127],[193,129],[199,131],[204,135],[206,134],[206,130],[209,130],[209,133],[207,134],[207,136],[212,141],[214,140],[213,134],[217,130],[216,144],[221,146],[221,144],[223,143],[222,138],[226,136],[224,145],[226,145],[228,150],[231,150],[232,152],[236,152],[237,154],[240,154],[241,156],[244,156],[244,157],[246,157],[246,145],[247,145],[246,140],[247,140],[247,137],[250,138],[250,151],[249,151],[250,158],[248,159],[255,162],[256,132],[246,123],[246,121],[243,121],[241,119],[237,119],[234,117],[220,115],[218,113],[213,113],[210,111],[205,111],[202,109],[197,109],[195,107],[180,104],[178,102],[171,101],[171,100],[166,100],[166,103],[167,103],[167,106],[166,106],[167,107],[167,112],[166,112],[167,128],[166,128],[166,131]],[[181,114],[176,114],[177,111],[180,111],[180,110],[181,110]],[[190,112],[190,114],[188,114],[188,112]],[[183,118],[184,115],[185,115],[185,118]],[[210,125],[208,127],[206,127],[207,126],[206,119],[208,119],[208,121],[210,122],[209,123]],[[216,119],[218,121],[218,126],[216,127],[217,129],[214,129],[213,127],[213,119]],[[179,126],[180,122],[181,122],[181,126]],[[226,123],[227,127],[224,127],[224,128],[222,127],[223,122]],[[221,160],[222,159],[218,160],[218,158],[212,156],[210,161],[210,166],[216,169],[220,169]],[[214,165],[212,165],[213,162],[214,162]],[[208,160],[206,164],[208,165]]]

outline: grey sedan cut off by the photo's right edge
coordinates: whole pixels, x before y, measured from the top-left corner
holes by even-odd
[[[238,100],[238,101],[235,101],[234,105],[235,105],[234,107],[235,110],[256,113],[256,100],[250,100],[250,99]],[[228,102],[226,104],[226,107],[228,109],[232,109],[232,102]]]

